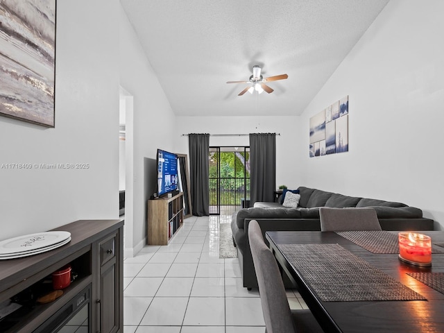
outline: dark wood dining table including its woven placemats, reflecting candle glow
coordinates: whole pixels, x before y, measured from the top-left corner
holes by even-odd
[[[394,231],[268,231],[280,266],[325,332],[444,332],[444,231],[431,266],[399,257]]]

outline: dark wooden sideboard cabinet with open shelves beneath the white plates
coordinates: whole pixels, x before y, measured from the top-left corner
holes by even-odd
[[[123,220],[80,220],[54,230],[71,232],[71,241],[39,255],[0,260],[0,303],[23,304],[0,320],[0,332],[54,332],[82,318],[88,327],[82,332],[123,333]],[[51,291],[51,274],[67,265],[76,278],[62,296],[35,302]]]

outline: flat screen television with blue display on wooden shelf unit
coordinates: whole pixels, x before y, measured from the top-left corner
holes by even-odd
[[[157,196],[177,189],[178,155],[157,149]]]

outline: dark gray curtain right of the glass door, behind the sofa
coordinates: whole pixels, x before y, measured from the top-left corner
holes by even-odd
[[[250,207],[256,201],[274,201],[276,188],[276,134],[250,134]]]

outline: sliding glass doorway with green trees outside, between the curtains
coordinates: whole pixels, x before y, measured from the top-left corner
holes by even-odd
[[[231,215],[250,203],[250,147],[210,146],[210,215]]]

